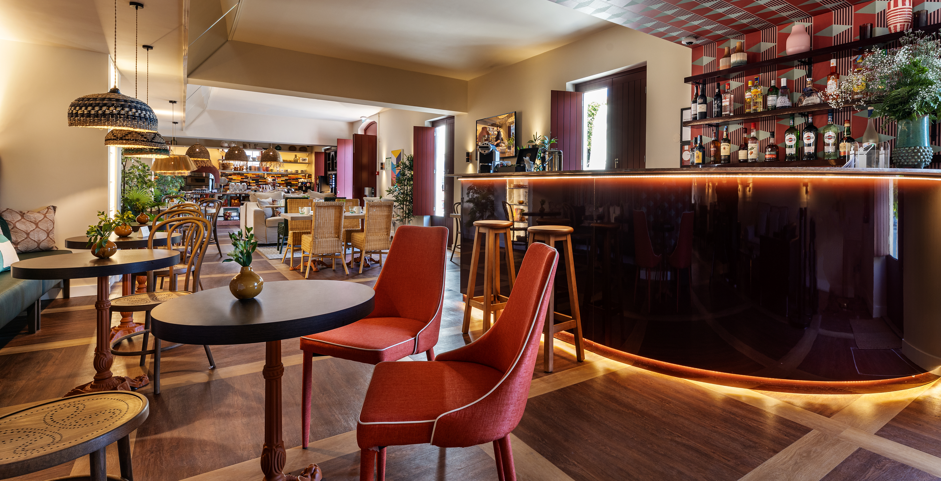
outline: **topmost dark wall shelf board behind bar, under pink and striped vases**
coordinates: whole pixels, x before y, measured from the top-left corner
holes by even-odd
[[[941,29],[941,24],[931,24],[926,26],[919,26],[916,28],[921,30],[926,34],[932,34]],[[738,67],[731,67],[728,69],[723,69],[719,71],[700,73],[698,75],[693,75],[683,79],[683,82],[687,84],[710,84],[717,82],[720,79],[730,79],[736,78],[739,76],[752,76],[757,75],[761,72],[768,72],[769,67],[794,67],[800,64],[813,64],[818,62],[829,61],[833,57],[847,57],[855,56],[859,54],[859,49],[879,46],[882,47],[886,43],[894,40],[899,40],[904,36],[904,32],[890,33],[886,35],[880,35],[878,37],[872,37],[864,40],[853,40],[846,43],[840,43],[838,45],[832,45],[829,47],[822,47],[818,49],[808,50],[800,54],[794,54],[792,56],[778,56],[775,58],[770,58],[768,60],[761,60],[755,63],[749,63],[745,65],[740,65]]]

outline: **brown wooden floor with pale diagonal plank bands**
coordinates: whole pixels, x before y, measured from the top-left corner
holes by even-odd
[[[222,232],[220,232],[222,233]],[[231,249],[228,239],[223,251]],[[215,252],[215,248],[213,249]],[[226,285],[238,270],[207,255],[204,288]],[[449,264],[436,352],[480,335],[461,334],[459,265]],[[301,279],[279,260],[255,255],[265,281]],[[379,267],[347,276],[322,270],[311,278],[373,285]],[[113,296],[119,296],[115,286]],[[299,299],[302,301],[302,299]],[[43,302],[42,329],[25,333],[25,317],[0,330],[0,413],[59,397],[93,370],[93,297]],[[116,319],[113,321],[117,324]],[[284,441],[300,444],[300,351],[282,345]],[[556,371],[536,362],[530,400],[513,433],[522,480],[928,480],[941,476],[941,385],[896,393],[810,395],[766,393],[667,377],[556,341]],[[129,348],[129,347],[125,347]],[[137,481],[261,479],[263,345],[213,346],[215,370],[202,347],[163,358],[163,391],[139,392],[151,414],[134,435]],[[424,356],[414,356],[422,361]],[[136,358],[116,358],[116,375],[144,371]],[[148,363],[149,364],[149,363]],[[328,480],[359,479],[356,419],[372,366],[315,358],[311,447],[288,451],[287,471],[319,463]],[[145,366],[145,367],[149,367]],[[112,446],[114,448],[114,446]],[[109,473],[119,473],[117,449]],[[88,459],[14,478],[44,480],[88,473]],[[3,473],[0,473],[0,478]],[[390,447],[390,480],[496,480],[489,445],[443,449]]]

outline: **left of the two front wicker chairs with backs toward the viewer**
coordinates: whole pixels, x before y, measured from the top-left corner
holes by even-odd
[[[337,259],[343,264],[343,272],[349,274],[346,268],[345,247],[343,246],[343,207],[344,202],[314,202],[313,218],[311,218],[311,232],[300,237],[300,264],[304,265],[304,256],[307,255],[306,279],[313,271],[319,272],[316,260],[324,258],[333,259],[333,268],[337,268]],[[316,260],[315,260],[316,258]]]

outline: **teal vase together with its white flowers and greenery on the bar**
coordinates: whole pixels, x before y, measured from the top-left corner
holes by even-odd
[[[899,43],[899,48],[863,55],[861,68],[850,72],[829,104],[854,104],[856,109],[869,104],[873,117],[895,120],[899,132],[892,162],[901,168],[925,168],[933,155],[928,121],[938,120],[941,105],[941,40],[936,34],[908,31]]]

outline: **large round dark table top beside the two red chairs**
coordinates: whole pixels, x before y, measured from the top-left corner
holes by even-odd
[[[239,345],[316,334],[373,312],[371,287],[345,281],[265,282],[262,294],[239,300],[229,286],[177,297],[151,312],[152,331],[169,343]]]

